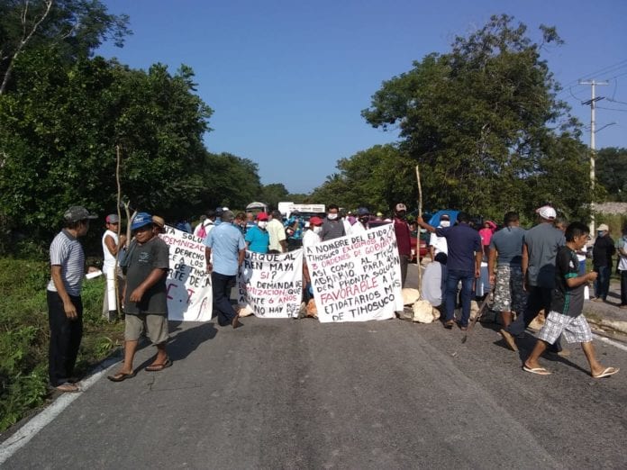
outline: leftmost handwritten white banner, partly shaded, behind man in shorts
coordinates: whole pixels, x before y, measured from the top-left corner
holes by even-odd
[[[159,237],[169,246],[168,320],[210,321],[213,294],[203,240],[168,225]]]

